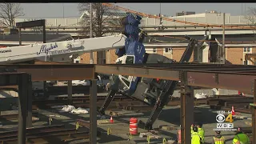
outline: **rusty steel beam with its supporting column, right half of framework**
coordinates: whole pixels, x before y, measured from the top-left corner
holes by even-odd
[[[148,64],[96,65],[95,71],[104,74],[122,74],[146,78],[181,81],[182,144],[191,143],[190,126],[194,117],[194,86],[240,90],[254,94],[256,104],[256,66],[219,64]],[[256,109],[252,107],[253,143],[256,143]]]

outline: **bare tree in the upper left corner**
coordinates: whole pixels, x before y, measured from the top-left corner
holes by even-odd
[[[0,4],[0,24],[2,26],[15,26],[15,18],[24,16],[20,3],[1,3]]]

